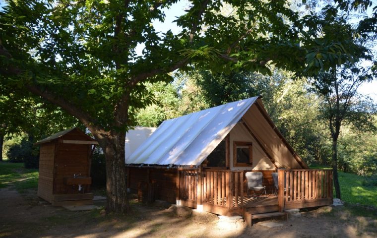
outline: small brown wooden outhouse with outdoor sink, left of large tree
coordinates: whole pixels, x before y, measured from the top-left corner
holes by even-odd
[[[35,145],[40,145],[38,196],[54,206],[92,204],[90,162],[98,142],[75,127]]]

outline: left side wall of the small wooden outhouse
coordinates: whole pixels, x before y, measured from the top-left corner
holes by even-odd
[[[39,152],[38,196],[52,201],[54,180],[55,142],[41,145]]]

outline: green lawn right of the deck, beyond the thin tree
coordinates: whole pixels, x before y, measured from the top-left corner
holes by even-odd
[[[315,165],[312,169],[328,169],[326,166]],[[365,186],[366,177],[354,174],[339,174],[340,192],[342,200],[352,204],[360,203],[362,205],[377,207],[377,186]],[[334,191],[335,196],[335,191]]]

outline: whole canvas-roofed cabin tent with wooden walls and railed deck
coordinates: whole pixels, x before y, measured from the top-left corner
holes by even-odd
[[[143,193],[152,198],[221,215],[332,202],[331,171],[309,170],[259,97],[165,120],[126,158],[126,170],[130,190],[146,189]],[[248,171],[262,172],[269,193],[272,173],[278,171],[279,186],[285,184],[281,179],[288,186],[286,196],[279,193],[263,200],[268,204],[255,203],[245,196]]]

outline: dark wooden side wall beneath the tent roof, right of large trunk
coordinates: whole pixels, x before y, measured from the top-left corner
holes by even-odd
[[[127,167],[126,167],[127,168]],[[176,203],[176,179],[177,171],[175,169],[147,169],[147,168],[129,168],[129,187],[132,192],[137,191],[139,182],[157,183],[157,198],[170,203]],[[148,172],[149,171],[149,172]],[[149,174],[149,175],[148,175]]]

